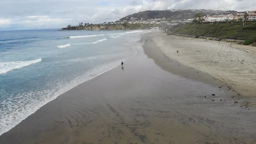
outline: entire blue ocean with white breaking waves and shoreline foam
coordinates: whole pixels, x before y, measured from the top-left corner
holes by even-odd
[[[136,54],[142,30],[0,31],[0,135]]]

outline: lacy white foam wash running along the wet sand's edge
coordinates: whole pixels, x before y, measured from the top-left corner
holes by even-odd
[[[135,51],[132,56],[134,56],[136,53],[137,51]],[[128,57],[127,59],[131,58],[132,56]],[[114,69],[116,66],[120,65],[121,60],[125,62],[124,59],[117,59],[113,62],[98,65],[97,67],[85,72],[83,75],[78,75],[72,78],[70,82],[59,80],[56,83],[47,84],[46,88],[42,89],[41,91],[20,93],[15,97],[10,97],[3,101],[3,103],[0,103],[0,105],[6,106],[2,109],[3,111],[0,112],[0,135],[14,128],[25,118],[35,113],[40,107],[46,105],[48,102],[54,100],[64,92],[67,92],[75,86],[93,79],[104,72]],[[13,101],[16,100],[20,101],[18,102],[18,105],[13,103]],[[23,105],[24,101],[26,102],[26,105]],[[9,111],[10,109],[13,110],[11,113]]]

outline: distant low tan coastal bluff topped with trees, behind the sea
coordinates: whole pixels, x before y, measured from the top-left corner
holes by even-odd
[[[68,26],[59,30],[133,30],[151,29],[158,25],[145,23],[90,24],[86,26]]]

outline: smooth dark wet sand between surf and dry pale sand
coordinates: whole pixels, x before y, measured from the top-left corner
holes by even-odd
[[[60,95],[0,144],[256,144],[250,99],[167,58],[152,37],[144,34],[124,69]]]

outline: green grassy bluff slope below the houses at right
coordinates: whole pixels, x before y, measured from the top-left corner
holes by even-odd
[[[244,23],[203,23],[195,25],[192,23],[178,26],[171,29],[173,33],[196,35],[196,36],[213,36],[228,39],[256,39],[256,22]]]

